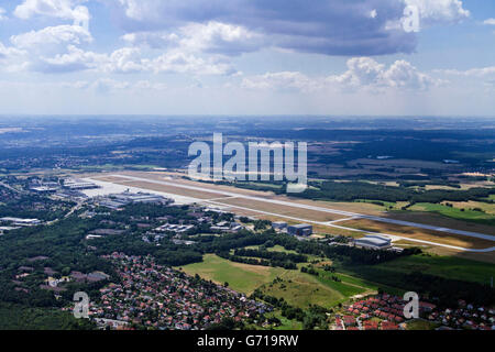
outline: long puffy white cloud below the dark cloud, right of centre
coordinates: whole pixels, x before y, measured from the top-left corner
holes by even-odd
[[[348,61],[348,70],[341,75],[311,78],[298,72],[267,73],[244,78],[242,87],[264,90],[296,89],[302,92],[331,88],[377,92],[384,89],[427,90],[441,84],[441,80],[419,72],[405,61],[396,61],[386,67],[370,57],[354,57]]]

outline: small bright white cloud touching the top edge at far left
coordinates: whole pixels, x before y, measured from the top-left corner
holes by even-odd
[[[29,20],[34,15],[45,15],[73,20],[75,24],[88,23],[90,19],[87,7],[80,6],[86,0],[24,0],[14,10],[14,15]]]

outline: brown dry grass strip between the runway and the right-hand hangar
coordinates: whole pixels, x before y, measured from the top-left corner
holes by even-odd
[[[393,223],[372,221],[365,219],[343,221],[342,227],[360,229],[369,232],[378,232],[386,234],[395,234],[398,237],[431,241],[436,243],[443,243],[468,249],[486,249],[493,246],[493,241],[474,239],[463,235],[455,235],[446,232],[431,231],[425,229],[417,229],[411,227],[404,227]]]

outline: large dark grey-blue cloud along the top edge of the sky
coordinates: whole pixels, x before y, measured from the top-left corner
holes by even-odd
[[[277,46],[328,55],[410,53],[416,46],[415,35],[403,29],[386,28],[388,21],[402,19],[404,8],[405,3],[396,0],[314,0],[311,6],[306,0],[114,2],[117,15],[128,32],[165,31],[169,34],[191,23],[207,25],[207,32],[213,33],[206,34],[211,35],[207,42],[211,44],[213,38],[221,43],[212,46],[227,54],[231,53],[231,47],[239,51],[235,46],[245,43],[246,33],[264,36],[263,41],[248,46],[249,50]],[[230,28],[222,29],[219,23]],[[232,29],[237,30],[237,36],[226,41],[221,33]]]

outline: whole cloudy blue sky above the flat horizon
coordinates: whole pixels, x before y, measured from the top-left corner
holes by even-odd
[[[495,117],[495,1],[0,0],[0,114]]]

